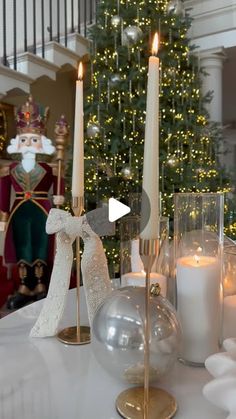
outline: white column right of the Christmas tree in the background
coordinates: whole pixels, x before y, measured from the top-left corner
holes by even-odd
[[[199,58],[200,66],[207,73],[202,76],[202,92],[213,91],[212,100],[205,107],[210,120],[222,124],[222,70],[226,54],[223,48],[215,48],[201,51]]]

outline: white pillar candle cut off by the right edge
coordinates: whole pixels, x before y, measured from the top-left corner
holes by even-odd
[[[236,295],[224,298],[224,339],[236,337]]]

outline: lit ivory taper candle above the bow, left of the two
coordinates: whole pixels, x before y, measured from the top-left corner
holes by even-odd
[[[84,196],[84,105],[82,63],[79,64],[75,94],[72,196]]]

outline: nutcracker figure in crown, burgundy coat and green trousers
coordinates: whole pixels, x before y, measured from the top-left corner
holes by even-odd
[[[54,205],[61,205],[64,200],[63,181],[58,194],[52,166],[36,161],[36,155],[51,155],[55,151],[45,136],[47,116],[48,109],[42,113],[32,97],[18,110],[17,135],[7,152],[20,153],[22,158],[3,167],[0,173],[0,228],[6,231],[4,262],[17,263],[20,278],[16,294],[8,299],[9,309],[41,299],[47,292],[47,269],[53,260],[53,242],[45,231],[52,206],[49,193],[54,194]]]

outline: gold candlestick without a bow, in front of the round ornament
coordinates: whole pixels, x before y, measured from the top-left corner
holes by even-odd
[[[149,387],[150,358],[150,273],[159,254],[159,240],[140,239],[139,253],[146,272],[144,323],[144,387],[123,391],[116,399],[116,408],[125,419],[169,419],[177,410],[173,396],[165,390]]]

